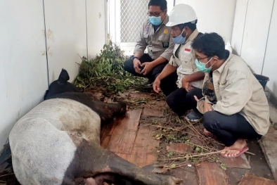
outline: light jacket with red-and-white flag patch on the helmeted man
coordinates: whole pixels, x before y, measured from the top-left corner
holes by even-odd
[[[175,44],[173,55],[169,60],[169,64],[173,65],[177,68],[177,86],[179,88],[182,87],[182,78],[185,75],[191,75],[193,72],[197,72],[198,68],[195,65],[195,51],[191,48],[191,44],[193,42],[193,39],[195,39],[198,36],[199,32],[198,30],[194,30],[194,32],[188,37],[186,42],[184,44]],[[179,49],[178,56],[176,57],[176,50]],[[193,87],[202,88],[203,80],[191,82]]]

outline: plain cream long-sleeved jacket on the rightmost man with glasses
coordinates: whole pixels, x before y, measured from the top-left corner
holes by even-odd
[[[224,115],[240,113],[260,135],[269,129],[269,103],[264,89],[250,71],[243,58],[230,54],[217,70],[212,72],[217,104],[213,110]],[[210,79],[205,73],[204,82]],[[205,101],[209,102],[207,98]],[[204,100],[198,101],[198,110],[203,113]],[[210,103],[210,102],[209,102]]]

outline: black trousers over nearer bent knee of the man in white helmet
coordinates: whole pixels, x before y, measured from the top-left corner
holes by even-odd
[[[187,92],[186,89],[179,88],[167,96],[167,105],[174,113],[181,116],[186,111],[196,108],[197,101],[194,96],[197,96],[198,99],[202,98],[202,89],[194,88]]]

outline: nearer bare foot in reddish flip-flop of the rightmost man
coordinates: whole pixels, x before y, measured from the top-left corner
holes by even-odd
[[[236,158],[245,153],[245,151],[248,151],[248,149],[245,139],[238,139],[232,146],[226,146],[224,151],[221,152],[221,155],[224,158]]]

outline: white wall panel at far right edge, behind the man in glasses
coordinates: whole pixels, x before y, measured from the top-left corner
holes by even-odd
[[[266,53],[264,58],[264,68],[262,75],[269,77],[270,81],[267,87],[277,97],[277,1],[274,2],[271,25],[269,29],[269,39],[266,45]]]

